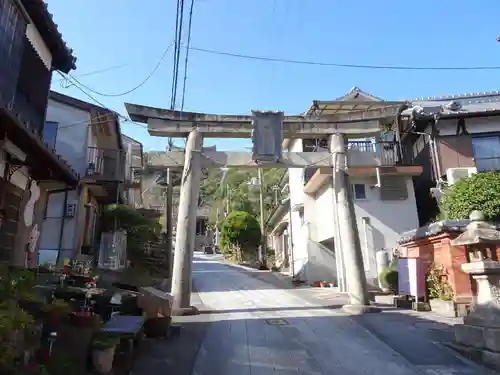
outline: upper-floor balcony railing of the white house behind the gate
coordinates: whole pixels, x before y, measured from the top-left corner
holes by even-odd
[[[369,166],[368,164],[371,162],[378,166],[415,164],[412,150],[405,148],[401,150],[398,142],[349,141],[346,149],[349,159],[353,159],[355,162],[367,162],[367,165],[363,166]],[[304,185],[309,182],[317,169],[317,167],[304,169]]]

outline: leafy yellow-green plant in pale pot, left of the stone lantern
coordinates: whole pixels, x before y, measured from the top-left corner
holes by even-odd
[[[457,317],[454,293],[446,278],[446,269],[441,265],[432,264],[426,281],[431,311],[445,317]]]

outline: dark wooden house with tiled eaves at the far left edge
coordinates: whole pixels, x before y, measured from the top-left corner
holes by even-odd
[[[45,138],[52,73],[75,61],[43,1],[0,0],[0,257],[16,266],[37,264],[49,195],[78,183]]]

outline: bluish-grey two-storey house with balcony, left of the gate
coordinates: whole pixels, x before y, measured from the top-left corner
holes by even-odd
[[[50,139],[55,152],[68,160],[80,180],[74,188],[50,194],[39,262],[96,260],[104,206],[125,203],[126,187],[135,186],[133,155],[127,155],[124,148],[118,116],[106,108],[52,91],[45,138]]]

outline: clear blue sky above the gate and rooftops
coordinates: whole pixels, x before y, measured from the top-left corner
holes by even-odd
[[[78,58],[72,74],[102,94],[120,94],[137,86],[174,39],[175,0],[46,1]],[[185,20],[189,5],[186,0]],[[499,14],[498,0],[195,0],[191,46],[340,64],[500,67]],[[187,27],[183,35],[187,35]],[[125,102],[168,108],[172,70],[170,49],[152,78],[137,90],[123,96],[88,92],[124,115]],[[353,86],[387,100],[493,91],[500,89],[500,69],[339,68],[192,50],[184,110],[249,114],[252,109],[262,109],[296,114],[313,100],[335,99]],[[52,89],[92,102],[56,74]],[[180,106],[180,95],[177,103]],[[164,150],[167,144],[166,138],[152,137],[137,124],[125,122],[122,131],[142,142],[146,151]],[[209,139],[205,144],[226,150],[248,145],[232,139]]]

